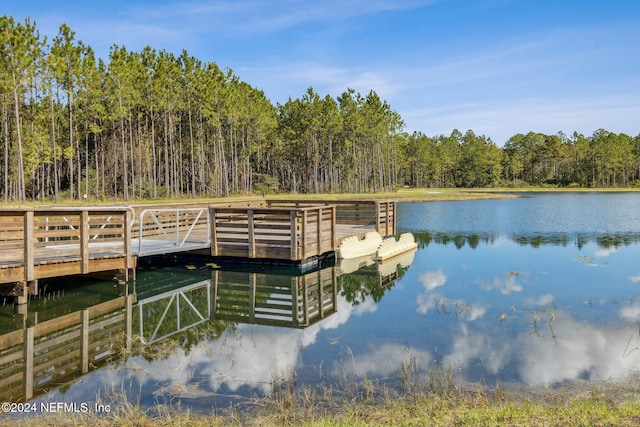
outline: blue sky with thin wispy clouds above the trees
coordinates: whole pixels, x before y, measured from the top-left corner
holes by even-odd
[[[502,145],[529,131],[640,133],[635,0],[6,1],[106,58],[149,45],[231,68],[275,104],[376,91],[408,132]]]

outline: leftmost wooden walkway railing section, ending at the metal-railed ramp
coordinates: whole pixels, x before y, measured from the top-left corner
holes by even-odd
[[[130,218],[122,208],[2,210],[0,283],[129,268]]]

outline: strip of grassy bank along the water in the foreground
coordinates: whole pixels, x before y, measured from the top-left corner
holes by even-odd
[[[179,406],[150,411],[109,399],[109,414],[49,414],[2,420],[2,426],[636,426],[640,383],[575,384],[505,390],[455,385],[447,373],[429,374],[402,391],[371,381],[343,389],[276,387],[270,396],[210,415]]]

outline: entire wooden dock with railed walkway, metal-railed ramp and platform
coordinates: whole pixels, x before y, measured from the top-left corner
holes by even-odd
[[[37,280],[120,270],[137,259],[212,257],[303,263],[350,236],[396,232],[396,202],[260,200],[0,211],[0,295],[26,298]],[[26,301],[24,301],[26,302]]]

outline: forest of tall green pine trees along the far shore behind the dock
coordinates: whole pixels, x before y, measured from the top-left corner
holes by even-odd
[[[149,46],[96,58],[0,17],[0,198],[71,201],[640,186],[640,134],[408,133],[371,90],[273,105],[232,70]],[[502,142],[502,141],[501,141]]]

